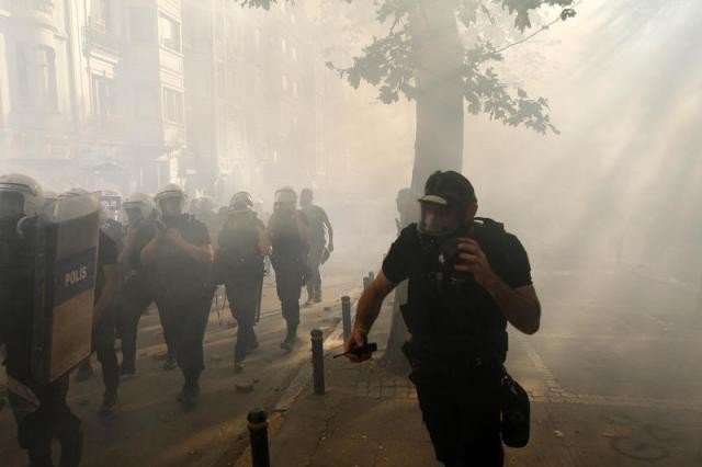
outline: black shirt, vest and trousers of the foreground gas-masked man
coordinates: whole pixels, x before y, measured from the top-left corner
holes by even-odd
[[[491,269],[511,287],[530,285],[526,252],[501,224],[475,224],[473,235]],[[471,275],[441,263],[440,244],[403,229],[383,263],[394,282],[409,280],[403,317],[411,334],[404,351],[437,458],[446,466],[501,466],[500,379],[507,320]]]

